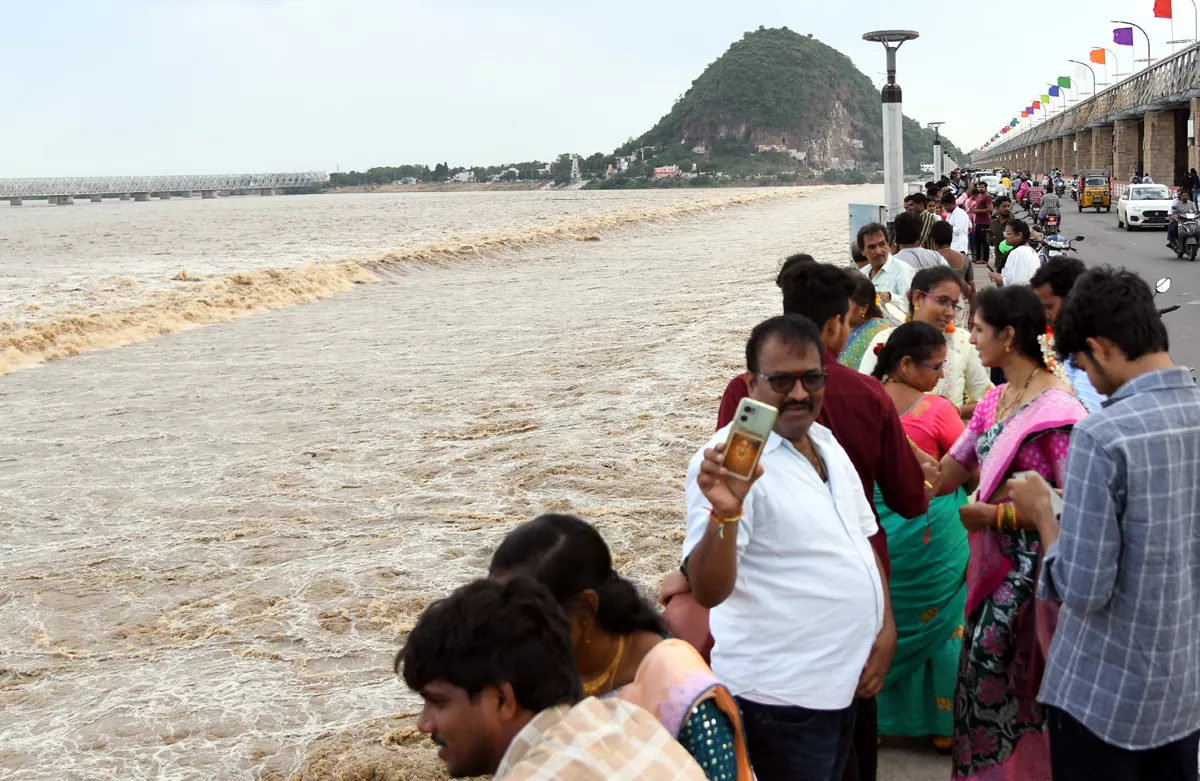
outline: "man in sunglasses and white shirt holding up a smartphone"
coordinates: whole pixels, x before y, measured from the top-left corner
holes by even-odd
[[[816,422],[823,352],[803,317],[758,324],[750,397],[779,410],[758,469],[742,480],[724,468],[728,427],[688,468],[688,577],[712,608],[713,671],[738,699],[761,781],[840,781],[856,697],[880,691],[895,651],[871,503]]]

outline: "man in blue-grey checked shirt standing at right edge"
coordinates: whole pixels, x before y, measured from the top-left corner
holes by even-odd
[[[1009,483],[1042,536],[1038,596],[1062,602],[1038,697],[1054,779],[1195,781],[1200,391],[1130,271],[1084,274],[1055,332],[1109,399],[1072,432],[1058,517],[1044,481]]]

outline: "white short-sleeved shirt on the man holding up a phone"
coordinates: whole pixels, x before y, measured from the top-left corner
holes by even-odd
[[[704,445],[726,441],[730,427]],[[733,593],[709,614],[713,672],[731,693],[766,704],[841,710],[883,627],[883,587],[868,536],[877,525],[863,482],[830,431],[809,429],[829,482],[774,432],[738,524]],[[684,557],[700,545],[709,503],[688,465]],[[727,529],[726,534],[732,531]]]

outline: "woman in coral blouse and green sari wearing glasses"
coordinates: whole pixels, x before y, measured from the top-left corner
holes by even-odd
[[[946,337],[929,323],[905,323],[880,350],[872,376],[892,397],[913,447],[936,459],[954,445],[964,425],[958,410],[932,390],[948,360]],[[949,751],[954,734],[954,686],[962,650],[970,546],[959,521],[964,488],[929,503],[923,518],[892,512],[875,491],[880,524],[892,554],[892,612],[896,653],[877,697],[880,734],[934,738]]]

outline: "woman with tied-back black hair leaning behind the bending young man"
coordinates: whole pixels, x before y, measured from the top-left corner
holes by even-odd
[[[540,582],[566,611],[583,693],[649,710],[712,781],[752,781],[742,715],[690,644],[667,637],[658,612],[612,569],[600,533],[542,515],[509,533],[488,576]]]

